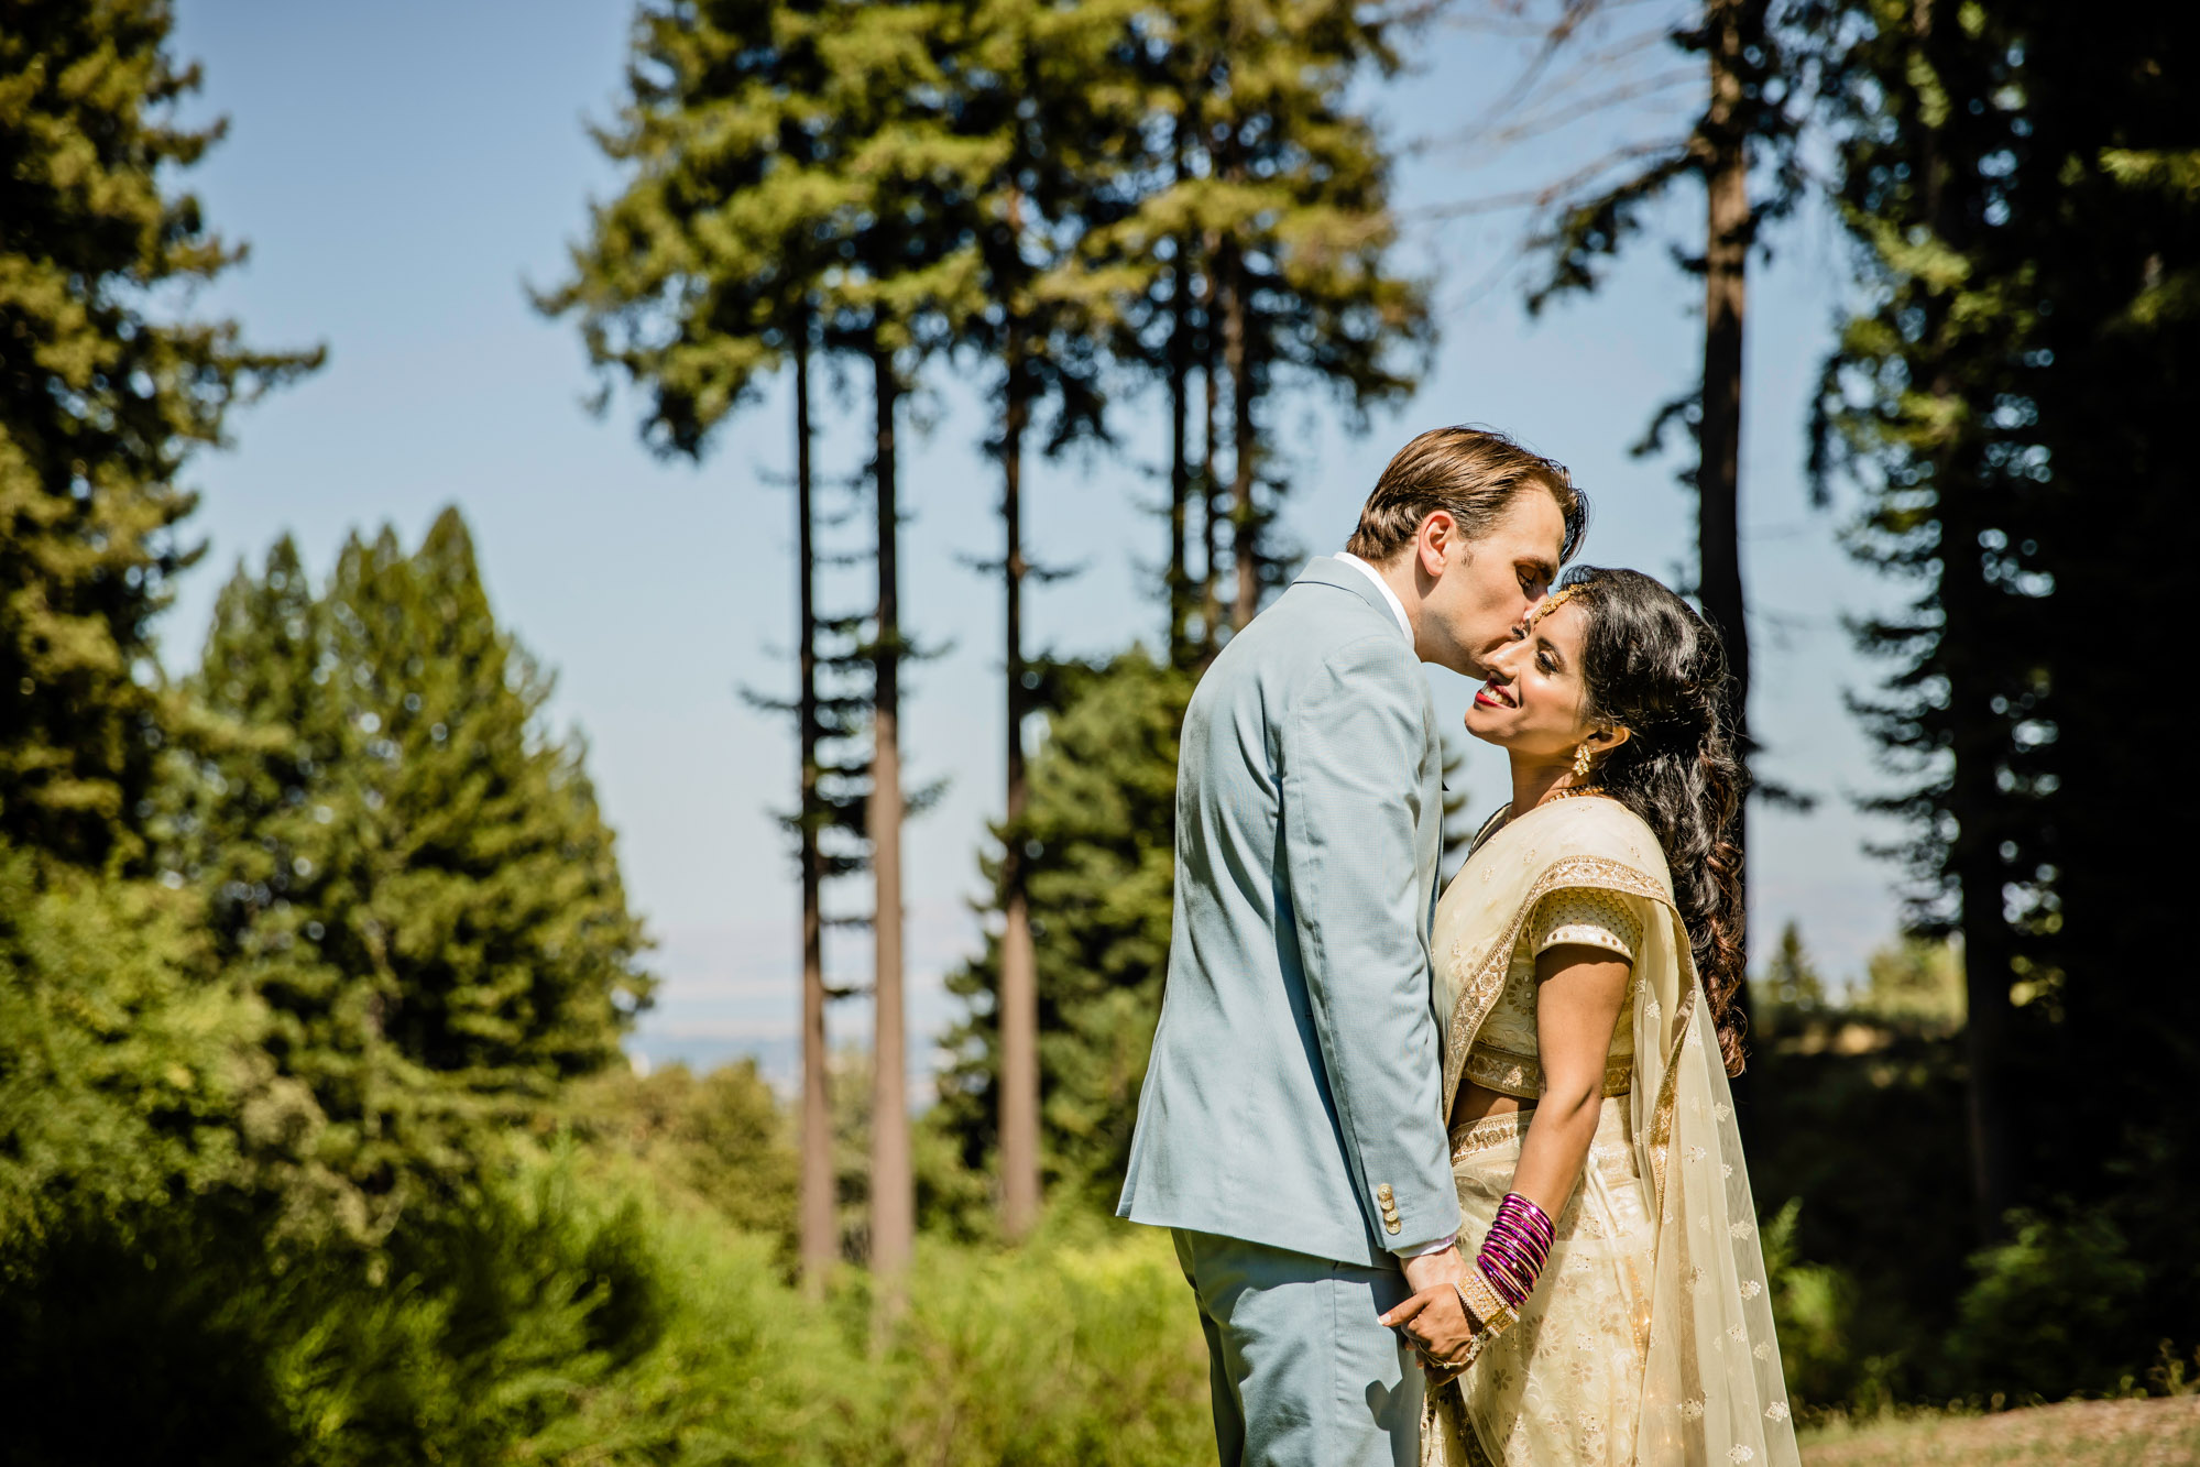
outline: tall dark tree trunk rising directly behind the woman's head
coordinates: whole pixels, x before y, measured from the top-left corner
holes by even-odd
[[[1742,605],[1742,319],[1749,271],[1749,145],[1742,119],[1742,51],[1762,33],[1764,0],[1709,0],[1705,4],[1705,53],[1712,64],[1712,106],[1698,132],[1705,147],[1707,196],[1703,268],[1703,418],[1696,466],[1696,596],[1703,616],[1727,644],[1727,697],[1734,713],[1734,748],[1745,768],[1749,741],[1749,620]],[[1734,842],[1747,853],[1749,805],[1734,818]],[[1749,867],[1742,864],[1747,891]],[[1747,902],[1745,902],[1747,911]],[[1749,985],[1734,994],[1749,1023]],[[1747,1078],[1736,1084],[1738,1113],[1753,1115]],[[1747,1119],[1742,1122],[1749,1130]]]

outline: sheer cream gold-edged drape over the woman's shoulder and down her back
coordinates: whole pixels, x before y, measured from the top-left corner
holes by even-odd
[[[1503,818],[1503,816],[1500,816]],[[1630,985],[1635,1080],[1626,1098],[1637,1170],[1654,1216],[1643,1348],[1639,1467],[1795,1467],[1758,1214],[1734,1095],[1672,906],[1657,836],[1610,798],[1569,798],[1492,820],[1437,908],[1437,1001],[1448,1016],[1443,1104],[1496,1001],[1536,902],[1566,886],[1648,897]],[[1481,1238],[1461,1238],[1474,1249]],[[1544,1289],[1562,1287],[1547,1278]],[[1643,1328],[1648,1324],[1648,1328]],[[1461,1377],[1474,1388],[1474,1370]],[[1536,1467],[1514,1463],[1509,1467]]]

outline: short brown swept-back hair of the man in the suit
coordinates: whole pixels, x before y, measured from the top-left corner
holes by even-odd
[[[1481,539],[1522,488],[1542,488],[1558,499],[1558,512],[1566,519],[1566,543],[1558,559],[1571,559],[1582,548],[1588,501],[1564,464],[1529,453],[1496,429],[1430,429],[1399,449],[1375,479],[1375,493],[1360,510],[1360,528],[1344,548],[1382,565],[1410,545],[1421,521],[1437,510],[1456,519],[1470,541]]]

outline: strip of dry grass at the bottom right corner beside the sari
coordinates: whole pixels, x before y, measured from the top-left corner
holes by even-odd
[[[1804,1432],[1804,1467],[2196,1467],[2200,1394],[1916,1414]]]

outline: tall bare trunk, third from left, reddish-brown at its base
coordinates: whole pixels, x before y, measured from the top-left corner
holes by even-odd
[[[1038,1223],[1038,963],[1023,889],[1023,429],[1030,374],[1023,332],[1008,326],[1008,389],[1001,416],[1001,585],[1008,627],[1008,840],[1001,847],[1001,1232],[1030,1236]]]

